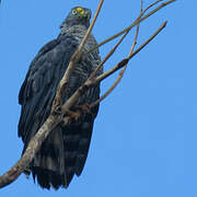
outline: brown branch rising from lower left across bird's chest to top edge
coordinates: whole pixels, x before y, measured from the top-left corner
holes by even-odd
[[[85,40],[88,39],[88,37],[91,33],[91,30],[96,21],[96,18],[97,18],[97,14],[100,13],[103,1],[104,0],[100,1],[97,11],[94,15],[94,19],[93,19],[84,38],[82,39],[78,50],[71,57],[71,62],[69,63],[69,69],[67,69],[67,72],[65,73],[63,79],[61,79],[61,81],[60,81],[59,90],[57,91],[57,94],[56,94],[56,102],[53,103],[53,108],[56,108],[56,107],[54,107],[54,105],[59,105],[58,101],[61,101],[62,85],[65,85],[67,83],[67,80],[69,79],[70,73],[74,69],[74,63],[80,58],[82,47],[83,47]],[[69,108],[70,105],[67,105],[67,107]],[[61,121],[61,119],[62,119],[62,115],[61,114],[59,115],[58,113],[56,113],[56,111],[53,111],[53,113],[49,115],[49,117],[44,123],[44,125],[38,129],[37,134],[34,136],[34,138],[31,139],[28,147],[27,147],[26,151],[24,152],[23,157],[16,162],[16,164],[14,166],[12,166],[12,169],[10,171],[8,171],[2,176],[0,176],[0,188],[9,185],[10,183],[15,181],[21,175],[21,173],[24,171],[24,169],[30,165],[30,163],[32,162],[32,160],[34,159],[34,157],[35,157],[36,152],[39,150],[43,141],[47,138],[47,136],[53,130],[53,128],[55,128],[57,126],[57,124],[59,124]]]

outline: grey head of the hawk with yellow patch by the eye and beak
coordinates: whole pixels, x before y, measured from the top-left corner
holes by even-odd
[[[76,7],[71,9],[67,19],[62,22],[60,27],[73,26],[73,25],[84,25],[86,28],[90,25],[91,10],[82,7]]]

